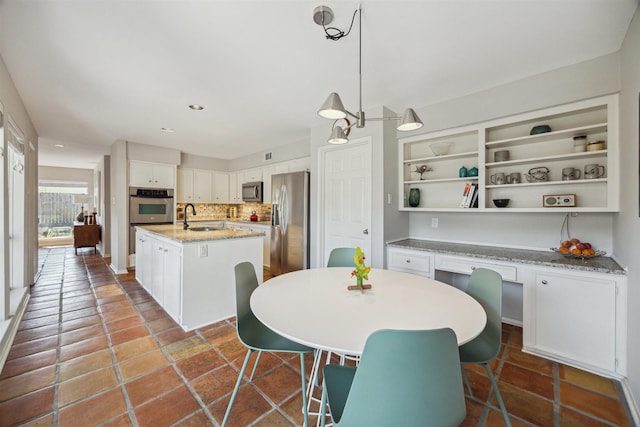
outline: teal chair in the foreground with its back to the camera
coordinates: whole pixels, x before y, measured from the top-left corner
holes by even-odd
[[[358,367],[326,365],[323,373],[323,426],[327,406],[335,426],[448,427],[466,416],[449,328],[376,331]]]

